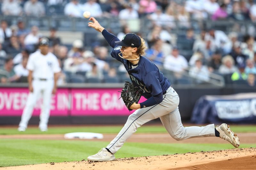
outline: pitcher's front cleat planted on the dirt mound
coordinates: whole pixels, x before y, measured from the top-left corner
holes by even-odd
[[[106,148],[102,148],[98,153],[87,158],[87,160],[95,162],[105,162],[114,159],[116,159],[115,155],[108,152]]]

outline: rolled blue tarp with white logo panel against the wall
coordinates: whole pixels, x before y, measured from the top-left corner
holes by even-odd
[[[194,123],[256,123],[256,93],[203,96],[193,110]]]

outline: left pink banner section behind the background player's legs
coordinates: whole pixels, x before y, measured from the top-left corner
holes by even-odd
[[[28,88],[0,88],[0,116],[21,116],[28,98]],[[33,116],[40,115],[42,99],[36,102]],[[51,99],[51,116],[67,116],[68,89],[58,89]]]

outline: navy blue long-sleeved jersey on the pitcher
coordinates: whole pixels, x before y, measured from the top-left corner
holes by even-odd
[[[137,67],[132,68],[132,63],[120,57],[122,56],[122,53],[120,52],[122,47],[115,43],[115,41],[119,41],[119,39],[107,30],[103,30],[102,35],[113,48],[111,56],[124,64],[134,86],[137,86],[143,91],[142,96],[146,99],[150,98],[148,102],[143,102],[144,106],[141,106],[141,108],[162,102],[163,94],[171,86],[171,83],[165,78],[158,67],[146,57],[140,56],[139,63],[134,65]],[[156,101],[152,102],[153,100]]]

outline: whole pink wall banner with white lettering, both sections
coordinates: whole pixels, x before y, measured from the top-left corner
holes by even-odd
[[[120,98],[122,89],[60,88],[51,99],[52,116],[130,115]],[[0,88],[0,116],[21,116],[28,97],[27,88]],[[145,101],[141,97],[140,102]],[[36,103],[33,116],[40,115],[42,99]]]

